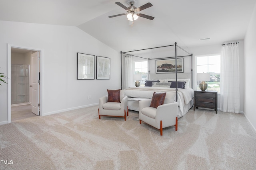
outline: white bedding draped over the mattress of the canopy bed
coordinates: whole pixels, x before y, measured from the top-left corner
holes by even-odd
[[[128,96],[128,100],[133,100],[132,98],[148,98],[151,99],[154,92],[168,92],[168,98],[176,101],[176,88],[169,87],[131,87],[125,90],[125,95]],[[194,90],[192,88],[178,88],[178,106],[179,106],[179,116],[184,116],[188,109],[185,106],[191,107],[191,103],[194,96]],[[166,96],[167,98],[167,96]],[[128,101],[129,102],[129,101]]]

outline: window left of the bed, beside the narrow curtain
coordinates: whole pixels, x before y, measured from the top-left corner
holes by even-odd
[[[148,78],[148,61],[135,61],[134,74],[140,75],[140,86],[145,86],[145,81]]]

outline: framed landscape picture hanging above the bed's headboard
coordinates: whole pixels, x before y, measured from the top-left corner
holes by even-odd
[[[177,58],[177,73],[183,72],[183,58]],[[156,73],[175,73],[175,59],[156,60]]]

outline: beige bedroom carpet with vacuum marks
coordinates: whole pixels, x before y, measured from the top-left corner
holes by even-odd
[[[98,106],[0,126],[0,169],[255,170],[256,133],[242,114],[196,109],[175,127],[98,119]]]

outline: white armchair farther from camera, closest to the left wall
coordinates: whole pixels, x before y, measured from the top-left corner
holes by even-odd
[[[100,116],[124,117],[126,121],[126,113],[128,110],[128,97],[124,95],[124,90],[120,90],[120,102],[108,102],[108,95],[103,96],[99,100],[99,119]]]

